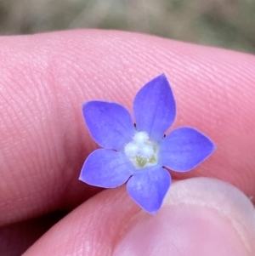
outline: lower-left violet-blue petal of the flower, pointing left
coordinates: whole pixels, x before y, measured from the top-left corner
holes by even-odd
[[[133,164],[122,152],[99,149],[88,156],[79,179],[89,185],[115,188],[124,184],[133,172]]]

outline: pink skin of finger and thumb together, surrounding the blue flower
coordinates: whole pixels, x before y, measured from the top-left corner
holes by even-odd
[[[254,255],[254,56],[118,31],[0,45],[1,255],[29,246],[24,255]],[[125,185],[78,181],[97,147],[81,106],[110,100],[131,111],[138,89],[162,72],[178,107],[169,131],[195,127],[217,151],[189,173],[171,172],[177,181],[152,216]]]

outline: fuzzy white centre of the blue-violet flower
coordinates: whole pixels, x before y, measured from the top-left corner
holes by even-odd
[[[124,152],[136,168],[144,168],[157,163],[157,145],[150,141],[146,132],[134,134],[133,140],[127,143]]]

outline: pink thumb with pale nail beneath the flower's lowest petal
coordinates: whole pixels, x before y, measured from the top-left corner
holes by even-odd
[[[156,215],[134,205],[123,187],[103,191],[24,255],[252,256],[254,239],[249,199],[218,179],[194,178],[174,183]]]

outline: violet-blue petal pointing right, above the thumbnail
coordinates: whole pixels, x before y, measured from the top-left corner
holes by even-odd
[[[215,149],[212,140],[194,128],[177,128],[161,142],[161,163],[173,171],[187,172]]]

